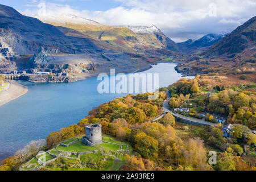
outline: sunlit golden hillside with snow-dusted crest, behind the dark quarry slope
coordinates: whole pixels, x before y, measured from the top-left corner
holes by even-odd
[[[88,19],[85,19],[86,22],[77,21],[77,18],[74,19],[73,16],[70,16],[65,22],[42,20],[56,26],[65,35],[88,38],[98,47],[109,48],[113,51],[142,54],[158,49],[166,49],[166,51],[170,51],[169,53],[179,51],[175,42],[155,26],[106,26],[93,20],[90,20],[92,22],[90,23]],[[144,31],[137,31],[140,29]],[[159,54],[157,51],[154,53]]]

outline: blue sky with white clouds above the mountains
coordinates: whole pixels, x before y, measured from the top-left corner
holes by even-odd
[[[0,3],[39,19],[68,14],[111,26],[155,25],[175,42],[229,32],[256,15],[256,0],[0,0]]]

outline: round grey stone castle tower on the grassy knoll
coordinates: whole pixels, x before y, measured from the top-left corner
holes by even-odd
[[[85,137],[82,137],[82,143],[87,146],[94,146],[102,143],[101,125],[92,124],[85,126]]]

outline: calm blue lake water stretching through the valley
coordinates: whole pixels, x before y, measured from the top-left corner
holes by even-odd
[[[163,87],[181,78],[174,67],[159,63],[142,73],[159,73],[159,87]],[[97,78],[61,84],[18,82],[28,86],[28,92],[0,107],[0,160],[31,140],[45,139],[52,131],[78,123],[93,107],[126,96],[99,94]]]

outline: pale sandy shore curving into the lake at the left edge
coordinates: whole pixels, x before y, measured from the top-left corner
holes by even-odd
[[[28,91],[27,86],[18,84],[14,80],[10,80],[10,86],[6,90],[0,90],[0,106],[23,96]]]

